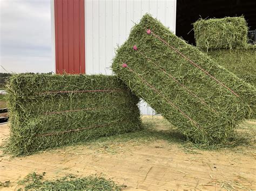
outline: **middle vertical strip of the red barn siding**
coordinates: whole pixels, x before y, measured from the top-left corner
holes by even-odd
[[[73,1],[68,1],[68,23],[69,23],[69,73],[74,72],[74,11]]]

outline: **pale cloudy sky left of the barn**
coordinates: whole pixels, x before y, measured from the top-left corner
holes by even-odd
[[[50,0],[0,0],[0,73],[51,72]]]

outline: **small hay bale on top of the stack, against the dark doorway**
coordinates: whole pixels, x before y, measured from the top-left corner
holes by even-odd
[[[248,41],[248,26],[243,16],[199,19],[193,26],[197,47],[201,49],[245,47]]]

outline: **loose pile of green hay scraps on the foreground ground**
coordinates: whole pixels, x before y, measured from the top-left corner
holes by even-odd
[[[102,176],[91,175],[77,178],[74,175],[68,175],[57,180],[44,181],[44,175],[45,173],[30,173],[18,182],[19,185],[24,186],[18,190],[121,190],[122,188],[111,179],[105,179]]]

